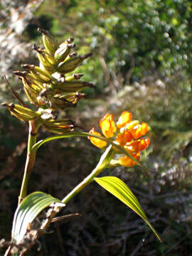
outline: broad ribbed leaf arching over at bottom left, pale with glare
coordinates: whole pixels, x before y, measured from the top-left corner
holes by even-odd
[[[58,198],[38,191],[31,193],[23,199],[14,215],[11,233],[13,242],[21,242],[26,234],[28,223],[32,223],[43,209],[50,206],[50,203],[61,203],[61,201]],[[65,205],[63,204],[63,206]]]

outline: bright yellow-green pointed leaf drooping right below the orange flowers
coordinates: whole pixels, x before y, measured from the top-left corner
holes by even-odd
[[[161,241],[161,238],[159,237],[158,233],[153,228],[151,223],[149,223],[149,220],[146,218],[146,215],[142,210],[139,201],[134,196],[129,187],[122,180],[114,176],[106,176],[94,179],[98,184],[100,184],[100,186],[102,186],[102,188],[105,188],[108,192],[112,193],[113,196],[117,197],[129,208],[134,210],[149,225],[151,230],[154,231],[156,237],[159,238],[159,240]]]

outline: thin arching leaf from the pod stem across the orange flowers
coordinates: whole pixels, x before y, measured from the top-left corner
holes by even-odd
[[[139,161],[137,161],[137,159],[134,159],[134,157],[131,156],[122,146],[115,144],[110,139],[107,139],[102,136],[97,136],[95,134],[89,134],[88,132],[68,132],[63,135],[55,135],[55,136],[48,137],[46,139],[41,139],[41,141],[39,141],[33,145],[31,151],[36,151],[41,145],[43,145],[46,142],[51,142],[54,139],[63,139],[63,138],[69,138],[69,137],[95,137],[97,139],[102,139],[103,141],[107,142],[107,144],[111,144],[115,149],[119,150],[122,154],[129,156],[129,158],[132,159],[133,161],[135,161],[139,166],[146,169],[145,166],[140,164]]]

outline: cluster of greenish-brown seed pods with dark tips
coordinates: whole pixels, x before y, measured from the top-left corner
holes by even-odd
[[[82,74],[68,73],[78,68],[92,53],[78,55],[71,52],[75,48],[73,38],[68,38],[59,45],[48,31],[39,31],[42,33],[44,47],[33,46],[40,62],[39,66],[22,64],[24,71],[14,71],[14,75],[23,82],[29,102],[38,107],[38,110],[13,103],[4,102],[1,105],[22,121],[36,120],[36,124],[42,125],[49,132],[63,134],[73,131],[75,122],[70,119],[57,119],[57,111],[75,107],[80,99],[86,97],[80,90],[94,87],[91,82],[80,80]]]

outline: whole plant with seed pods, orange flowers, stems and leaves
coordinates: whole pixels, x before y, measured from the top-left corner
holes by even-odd
[[[99,132],[95,132],[94,128],[91,129],[90,133],[73,132],[76,126],[75,122],[67,118],[57,119],[58,110],[75,107],[78,101],[85,97],[85,94],[81,93],[80,90],[85,87],[94,87],[92,83],[80,80],[82,74],[67,75],[73,72],[91,53],[85,55],[71,53],[71,50],[75,48],[73,38],[69,38],[58,45],[46,31],[41,30],[41,33],[43,33],[44,48],[33,46],[40,61],[39,66],[23,64],[22,67],[26,71],[14,72],[22,80],[28,100],[36,106],[36,110],[28,108],[18,96],[16,97],[20,100],[21,105],[2,104],[15,117],[29,122],[26,166],[18,196],[18,208],[14,215],[10,247],[5,256],[26,255],[38,237],[45,233],[46,228],[53,221],[60,208],[65,206],[73,196],[92,181],[99,183],[129,208],[132,208],[146,221],[159,238],[147,220],[137,198],[123,181],[112,176],[97,178],[107,167],[118,165],[129,167],[139,164],[140,152],[149,146],[149,139],[143,138],[149,131],[148,124],[139,124],[137,120],[132,121],[132,114],[127,111],[122,112],[116,123],[112,114],[106,114],[100,121],[100,128],[105,136],[102,137]],[[16,95],[15,92],[14,95]],[[60,135],[36,142],[38,128],[41,126],[49,132]],[[38,147],[53,139],[73,136],[88,137],[95,146],[105,148],[105,152],[95,169],[62,201],[39,191],[26,196],[28,179],[36,160]],[[110,145],[107,146],[107,144]],[[47,207],[49,207],[48,210]],[[42,212],[41,221],[36,221],[36,217]]]

